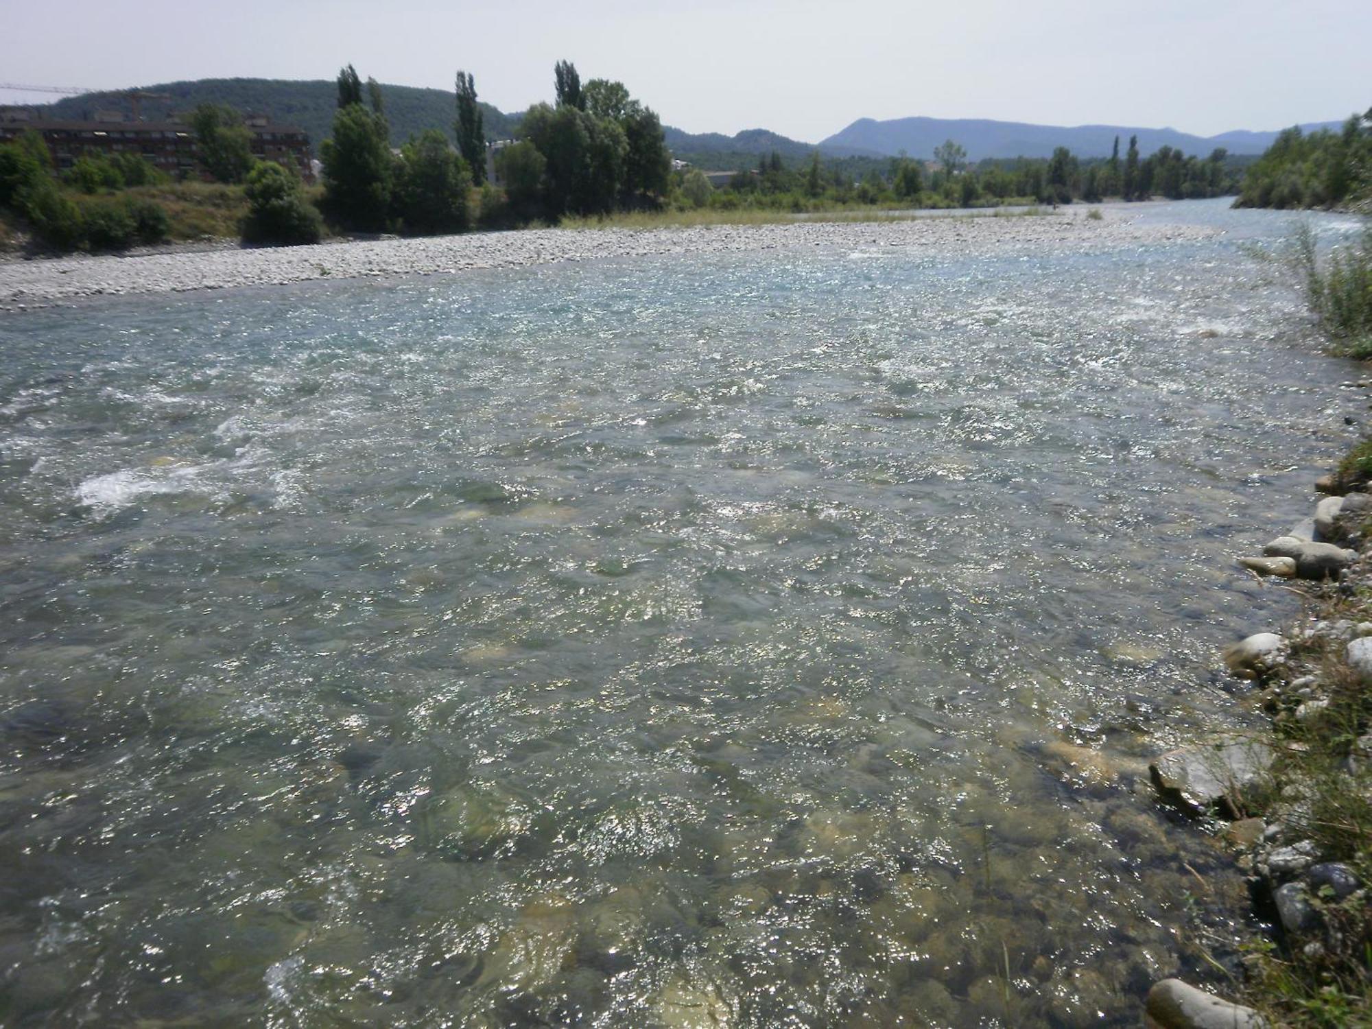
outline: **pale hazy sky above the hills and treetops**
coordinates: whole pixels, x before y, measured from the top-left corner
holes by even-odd
[[[0,0],[0,23],[4,82],[332,78],[351,62],[451,89],[462,67],[514,111],[552,97],[567,58],[670,125],[805,141],[860,117],[1214,134],[1372,104],[1369,0]]]

